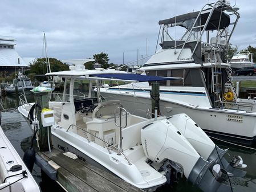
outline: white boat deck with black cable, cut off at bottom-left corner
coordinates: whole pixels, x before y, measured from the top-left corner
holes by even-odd
[[[0,191],[39,192],[29,169],[0,126]]]

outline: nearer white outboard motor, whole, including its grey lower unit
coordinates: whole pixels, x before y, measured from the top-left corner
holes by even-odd
[[[229,185],[214,177],[214,162],[204,160],[170,121],[159,120],[144,126],[141,129],[141,142],[149,160],[154,164],[169,161],[170,165],[177,165],[183,169],[185,177],[201,190],[230,191]]]

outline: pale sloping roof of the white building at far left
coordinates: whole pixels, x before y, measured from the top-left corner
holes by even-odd
[[[19,58],[19,63],[18,63]],[[11,48],[0,48],[0,67],[28,67],[29,63],[21,58],[17,51]]]

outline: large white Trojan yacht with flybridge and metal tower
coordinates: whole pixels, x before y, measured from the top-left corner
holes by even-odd
[[[250,145],[256,141],[256,100],[237,98],[230,64],[225,63],[237,10],[216,1],[200,11],[159,21],[161,48],[140,70],[146,76],[182,78],[160,82],[161,115],[186,113],[210,136]],[[175,27],[184,30],[181,39],[173,38]],[[118,98],[129,112],[135,107],[147,111],[150,91],[151,83],[132,83],[101,89],[101,95]]]

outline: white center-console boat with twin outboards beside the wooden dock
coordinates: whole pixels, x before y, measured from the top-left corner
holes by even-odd
[[[55,121],[51,126],[55,148],[75,153],[80,160],[107,169],[145,191],[155,191],[182,175],[203,191],[229,191],[225,179],[232,174],[245,175],[245,171],[237,169],[246,167],[242,158],[227,162],[226,150],[218,148],[187,115],[167,118],[155,113],[155,119],[147,119],[127,112],[119,100],[104,101],[100,96],[103,80],[143,82],[177,78],[104,69],[46,75],[62,77],[65,82],[59,97],[62,100],[49,102]],[[85,89],[75,88],[77,82],[88,81]],[[95,86],[97,92],[93,91]],[[31,106],[23,104],[18,110],[31,117]],[[36,127],[33,122],[32,127]]]

